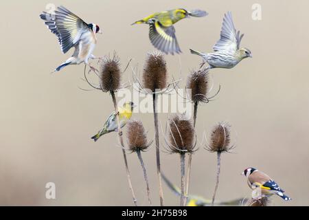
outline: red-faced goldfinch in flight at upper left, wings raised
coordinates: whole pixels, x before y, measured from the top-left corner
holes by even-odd
[[[54,72],[60,71],[67,65],[78,65],[82,62],[88,64],[89,58],[95,58],[92,52],[97,43],[96,34],[102,34],[98,25],[85,23],[63,6],[58,7],[53,14],[43,12],[40,17],[49,30],[58,37],[63,54],[71,47],[75,48],[73,55]]]

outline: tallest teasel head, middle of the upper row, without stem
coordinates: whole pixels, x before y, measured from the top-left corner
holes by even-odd
[[[155,92],[156,89],[165,89],[167,82],[167,68],[163,54],[152,52],[148,54],[143,74],[145,89]]]

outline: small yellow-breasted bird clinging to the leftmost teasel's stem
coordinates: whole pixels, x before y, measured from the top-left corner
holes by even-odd
[[[120,127],[124,127],[126,125],[126,122],[130,120],[133,112],[133,108],[135,107],[133,102],[126,102],[124,103],[123,107],[119,108],[119,123]],[[117,113],[113,111],[111,115],[108,116],[103,128],[91,139],[93,139],[95,142],[104,134],[110,133],[112,131],[117,131],[118,129],[118,124],[116,120]]]

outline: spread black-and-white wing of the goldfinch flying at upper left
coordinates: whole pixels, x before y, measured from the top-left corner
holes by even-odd
[[[63,54],[78,43],[84,32],[90,32],[87,23],[63,6],[58,7],[54,14],[43,12],[40,17],[58,37]]]

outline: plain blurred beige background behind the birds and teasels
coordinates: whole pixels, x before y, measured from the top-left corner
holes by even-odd
[[[113,110],[108,94],[82,91],[83,65],[49,74],[71,56],[63,55],[43,21],[41,11],[50,1],[1,1],[0,81],[0,205],[132,205],[122,153],[116,133],[94,143],[90,137]],[[254,166],[271,175],[293,201],[273,197],[273,205],[309,205],[308,170],[308,8],[299,1],[52,1],[65,5],[84,21],[98,23],[94,54],[117,51],[124,67],[129,58],[141,69],[147,52],[154,50],[146,25],[130,26],[142,17],[172,8],[200,8],[209,16],[176,23],[183,54],[167,56],[170,75],[182,86],[200,58],[189,48],[211,51],[218,40],[223,14],[229,10],[242,46],[253,59],[234,69],[214,69],[216,101],[198,108],[197,131],[201,140],[221,120],[232,124],[237,147],[222,155],[218,199],[250,196],[240,173]],[[262,5],[262,21],[251,19],[253,3]],[[124,81],[132,72],[124,74]],[[153,137],[152,114],[138,114]],[[167,114],[160,115],[165,123]],[[161,138],[161,143],[163,140]],[[179,157],[162,153],[162,169],[179,184]],[[155,148],[144,153],[152,200],[159,204]],[[128,155],[138,203],[147,205],[146,189],[137,156]],[[192,165],[190,192],[211,197],[215,184],[216,155],[200,149]],[[45,199],[45,184],[56,184],[56,199]],[[164,186],[165,204],[179,198]]]

